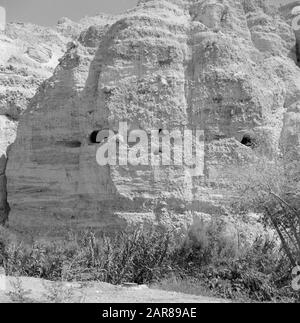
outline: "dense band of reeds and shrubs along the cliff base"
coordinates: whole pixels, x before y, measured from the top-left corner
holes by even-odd
[[[257,239],[247,250],[236,250],[224,240],[220,226],[214,222],[205,231],[190,232],[180,245],[171,233],[154,229],[139,228],[115,237],[92,231],[69,233],[62,242],[30,245],[10,241],[2,230],[1,258],[6,273],[16,277],[132,282],[246,302],[297,300],[291,266],[276,242]],[[59,299],[56,294],[61,292],[54,291],[53,299]],[[18,285],[12,296],[24,295]]]

